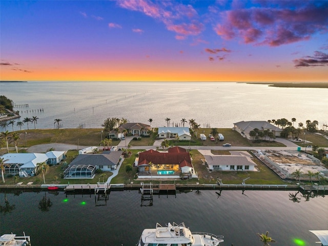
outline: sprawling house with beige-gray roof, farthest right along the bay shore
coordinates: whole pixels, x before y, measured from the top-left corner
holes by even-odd
[[[243,137],[252,139],[250,132],[257,128],[260,131],[270,130],[276,137],[280,136],[282,129],[270,124],[268,121],[239,121],[234,123],[233,130],[239,132]]]

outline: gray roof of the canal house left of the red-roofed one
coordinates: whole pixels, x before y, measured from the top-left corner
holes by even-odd
[[[111,151],[109,154],[78,155],[71,165],[113,166],[119,161],[122,151]]]

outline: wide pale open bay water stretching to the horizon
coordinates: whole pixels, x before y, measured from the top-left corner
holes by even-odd
[[[26,117],[37,116],[37,128],[54,128],[61,119],[64,128],[100,128],[108,117],[152,126],[179,124],[182,118],[195,119],[201,127],[232,128],[241,120],[268,120],[293,117],[328,124],[327,89],[275,88],[239,83],[139,83],[139,82],[28,82],[2,83],[1,95],[15,104]],[[37,109],[43,109],[37,112]],[[36,110],[32,112],[32,110]],[[30,112],[31,111],[31,112]],[[14,124],[14,130],[18,130]],[[30,129],[34,126],[30,125]],[[188,125],[188,123],[187,123]],[[27,129],[27,125],[23,127]],[[1,129],[3,131],[4,129]],[[7,127],[11,131],[11,126]]]

